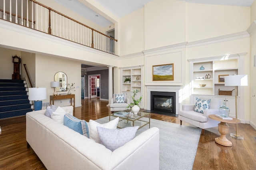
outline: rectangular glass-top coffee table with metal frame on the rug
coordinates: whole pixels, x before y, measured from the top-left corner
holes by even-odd
[[[118,115],[117,113],[124,113],[126,115]],[[118,128],[139,126],[138,129],[149,125],[150,128],[150,113],[138,112],[138,115],[131,116],[130,110],[118,111],[109,115],[109,121],[115,117],[119,117]]]

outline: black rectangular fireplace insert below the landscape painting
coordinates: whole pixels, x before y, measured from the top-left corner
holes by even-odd
[[[151,91],[150,111],[151,113],[176,116],[176,92]]]

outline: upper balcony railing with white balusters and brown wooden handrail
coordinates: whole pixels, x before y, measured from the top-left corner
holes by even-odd
[[[0,19],[116,55],[117,40],[35,0],[0,0]]]

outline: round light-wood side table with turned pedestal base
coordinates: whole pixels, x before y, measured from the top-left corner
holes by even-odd
[[[232,142],[226,138],[226,134],[228,134],[228,124],[227,123],[241,123],[240,120],[233,118],[233,120],[221,119],[216,117],[215,115],[209,115],[210,119],[215,121],[220,121],[218,124],[218,130],[220,132],[220,137],[215,138],[215,142],[221,144],[223,146],[232,146]]]

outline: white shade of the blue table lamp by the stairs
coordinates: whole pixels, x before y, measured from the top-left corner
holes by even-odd
[[[28,100],[37,101],[46,98],[46,88],[28,88]]]

